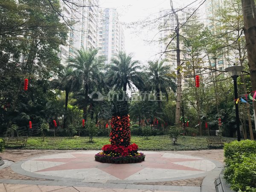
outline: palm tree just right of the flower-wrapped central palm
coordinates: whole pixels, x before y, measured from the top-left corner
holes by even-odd
[[[148,81],[153,85],[151,88],[157,94],[158,105],[160,106],[160,92],[176,91],[175,79],[171,76],[169,65],[164,65],[165,60],[160,62],[148,61]],[[168,99],[168,95],[167,95]]]

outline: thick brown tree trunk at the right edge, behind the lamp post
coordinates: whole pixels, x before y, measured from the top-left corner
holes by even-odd
[[[253,91],[256,90],[256,7],[254,0],[241,0],[244,15],[244,36]],[[253,102],[254,110],[256,102]],[[255,111],[254,111],[255,112]]]

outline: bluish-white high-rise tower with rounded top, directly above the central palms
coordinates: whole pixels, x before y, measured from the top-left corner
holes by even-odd
[[[116,9],[104,9],[99,18],[99,55],[109,63],[121,51],[125,51],[125,37]]]

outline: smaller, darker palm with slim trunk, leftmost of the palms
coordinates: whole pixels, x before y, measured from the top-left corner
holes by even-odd
[[[76,78],[72,67],[65,67],[58,79],[52,81],[53,87],[65,91],[65,113],[64,113],[64,128],[67,128],[67,105],[69,93],[73,90],[78,90],[79,81]]]

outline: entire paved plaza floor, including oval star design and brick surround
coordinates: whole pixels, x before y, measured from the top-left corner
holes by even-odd
[[[215,192],[223,150],[140,151],[141,163],[94,160],[99,151],[6,150],[0,192]]]

